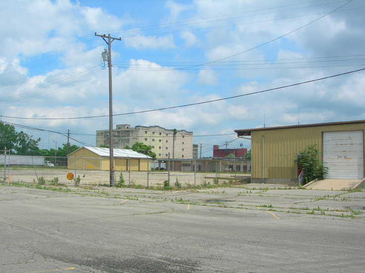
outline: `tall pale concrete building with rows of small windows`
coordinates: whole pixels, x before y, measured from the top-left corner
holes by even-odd
[[[165,129],[160,126],[116,125],[113,129],[113,148],[132,147],[136,142],[152,146],[156,158],[193,158],[193,132]],[[109,146],[109,130],[96,131],[96,146]]]

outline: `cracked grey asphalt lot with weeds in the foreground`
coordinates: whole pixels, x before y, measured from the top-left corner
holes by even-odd
[[[365,192],[279,187],[0,186],[0,272],[363,272]]]

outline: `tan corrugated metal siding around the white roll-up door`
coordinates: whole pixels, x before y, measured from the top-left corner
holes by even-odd
[[[264,178],[296,178],[295,154],[316,144],[322,152],[322,132],[365,130],[365,123],[339,124],[251,132],[252,178],[262,178],[262,135],[264,135]],[[318,155],[322,158],[321,154]]]

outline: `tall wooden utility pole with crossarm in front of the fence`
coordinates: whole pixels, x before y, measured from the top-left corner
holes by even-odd
[[[97,35],[95,33],[95,36],[99,36],[104,39],[104,41],[108,45],[108,68],[109,68],[109,167],[110,167],[110,180],[109,180],[109,186],[114,187],[114,155],[113,155],[113,96],[111,91],[111,48],[110,43],[113,40],[121,40],[121,38],[113,38],[110,37],[110,34],[107,36],[107,41],[105,40],[106,35]]]

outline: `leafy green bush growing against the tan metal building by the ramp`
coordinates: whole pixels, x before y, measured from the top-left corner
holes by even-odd
[[[311,182],[316,178],[323,179],[324,175],[328,173],[328,167],[323,165],[318,159],[318,152],[314,145],[307,146],[307,149],[296,154],[294,162],[298,169],[304,171],[304,177],[307,182]]]

